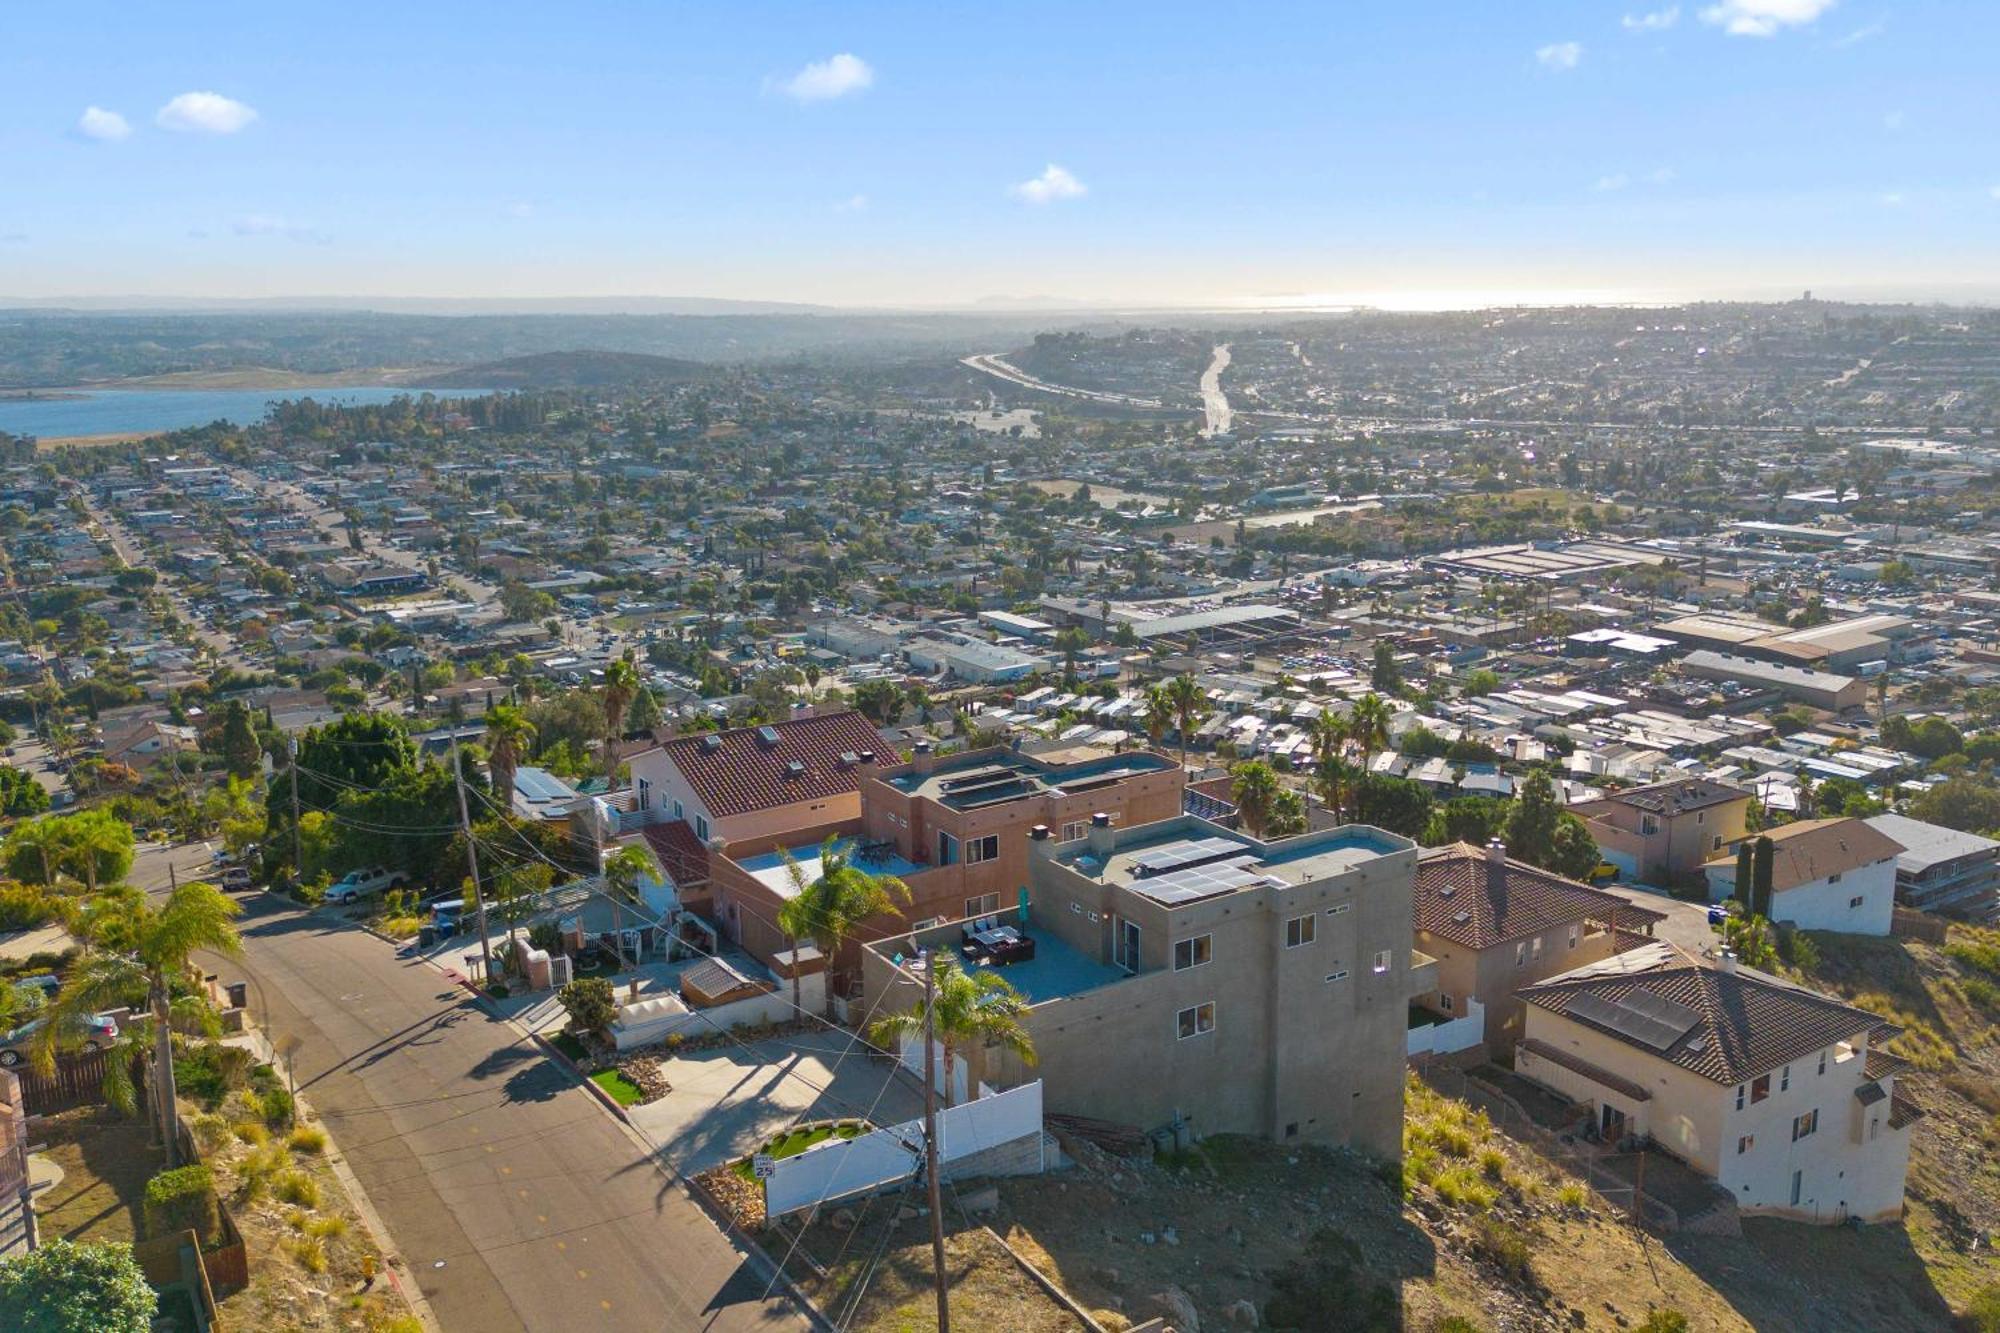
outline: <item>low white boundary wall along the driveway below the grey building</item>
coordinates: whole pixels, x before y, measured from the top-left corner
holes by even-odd
[[[938,1113],[938,1163],[1042,1133],[1042,1083],[1024,1083],[992,1097]],[[770,1217],[810,1209],[830,1199],[892,1185],[916,1173],[924,1151],[924,1123],[892,1125],[858,1139],[828,1139],[796,1157],[772,1163],[764,1181]]]

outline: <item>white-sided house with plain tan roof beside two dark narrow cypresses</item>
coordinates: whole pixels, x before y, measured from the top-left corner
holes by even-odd
[[[1764,837],[1772,843],[1772,921],[1800,931],[1890,933],[1902,843],[1860,819],[1804,819]],[[1736,857],[1716,857],[1704,871],[1710,903],[1736,893]]]

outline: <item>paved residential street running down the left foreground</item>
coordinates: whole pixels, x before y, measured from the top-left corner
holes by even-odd
[[[446,1333],[810,1329],[630,1129],[428,963],[246,901],[252,1011]]]

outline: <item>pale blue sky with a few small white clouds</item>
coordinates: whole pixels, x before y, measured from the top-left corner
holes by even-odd
[[[0,0],[0,300],[2000,300],[2000,4]]]

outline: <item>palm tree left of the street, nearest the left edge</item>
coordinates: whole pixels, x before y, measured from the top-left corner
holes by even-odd
[[[166,1165],[180,1165],[180,1111],[174,1103],[174,977],[188,977],[196,951],[236,955],[242,939],[230,925],[242,911],[214,885],[186,883],[154,907],[140,891],[114,891],[88,913],[88,953],[70,969],[36,1035],[34,1059],[54,1067],[56,1041],[76,1035],[90,1015],[146,995],[152,1009],[152,1105]],[[186,1009],[182,1009],[186,1013]]]

